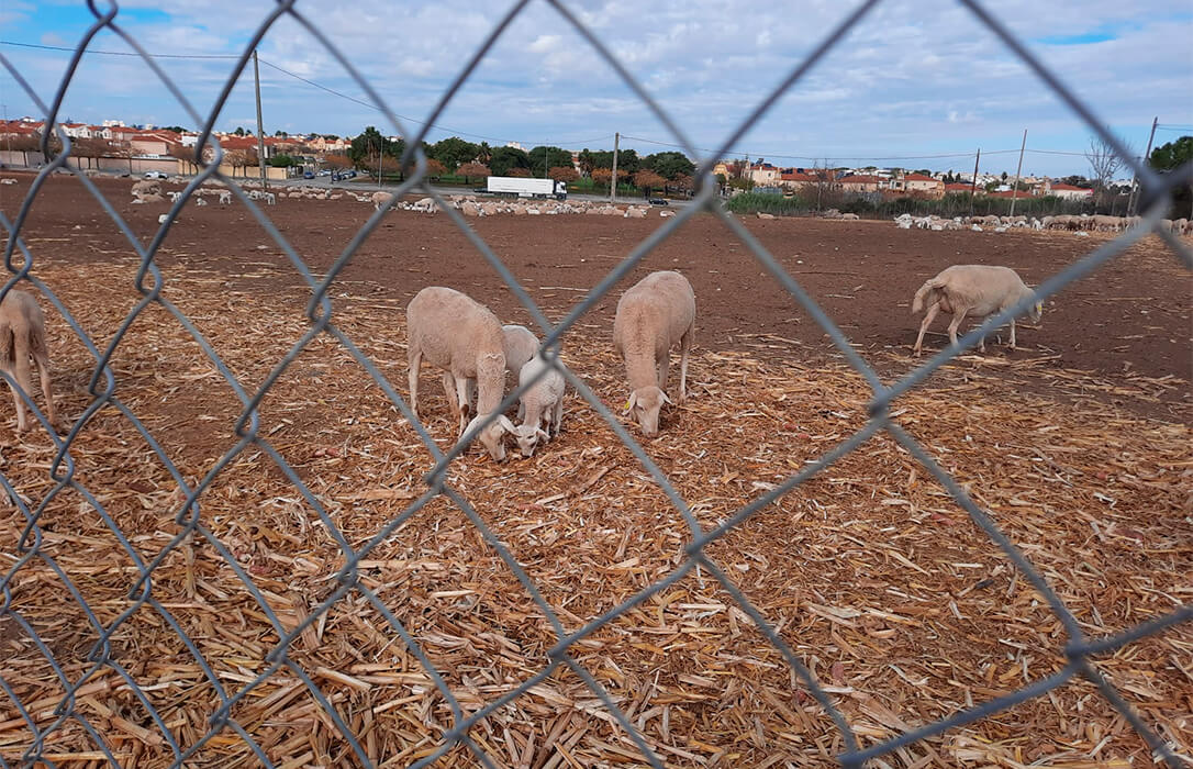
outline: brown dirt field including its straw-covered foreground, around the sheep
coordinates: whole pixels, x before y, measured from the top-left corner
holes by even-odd
[[[0,187],[10,219],[27,181]],[[101,186],[148,238],[166,206],[129,205],[128,181]],[[320,273],[371,212],[354,200],[284,199],[266,209]],[[472,224],[557,321],[662,222],[505,216]],[[1034,284],[1096,240],[898,230],[889,222],[746,224],[886,380],[915,366],[909,352],[917,320],[908,305],[926,278],[950,263],[983,262],[1012,266]],[[23,236],[35,274],[103,349],[141,299],[128,242],[70,179],[51,180]],[[309,293],[240,207],[187,206],[157,263],[162,294],[249,393],[309,329]],[[564,337],[569,365],[614,410],[625,396],[608,341],[616,299],[659,268],[682,271],[696,287],[697,351],[692,401],[669,411],[663,433],[644,446],[709,528],[860,428],[869,391],[731,232],[701,215]],[[333,320],[402,395],[403,308],[433,284],[468,291],[506,322],[528,323],[445,216],[389,215],[336,281]],[[1193,595],[1191,289],[1189,274],[1149,238],[1050,302],[1040,327],[1021,325],[1020,349],[991,339],[985,355],[950,364],[897,404],[898,422],[990,511],[1090,637],[1172,612]],[[49,324],[60,409],[76,420],[92,401],[94,361],[56,314]],[[945,339],[946,322],[938,324],[933,351]],[[241,402],[161,306],[150,305],[131,324],[112,368],[119,403],[188,483],[233,448]],[[446,448],[452,427],[443,396],[437,386],[424,390],[420,410]],[[14,421],[6,418],[0,429],[11,436]],[[41,727],[52,723],[62,684],[13,618],[41,635],[70,681],[91,670],[97,638],[51,560],[109,625],[132,606],[136,558],[160,557],[153,585],[161,607],[141,607],[120,622],[112,658],[148,688],[180,750],[202,744],[193,765],[253,765],[231,730],[203,739],[216,703],[271,670],[266,655],[279,627],[295,627],[334,589],[344,553],[329,525],[361,547],[421,494],[432,466],[410,426],[326,335],[282,373],[262,401],[260,423],[261,439],[229,454],[227,470],[200,497],[211,539],[200,532],[181,541],[178,485],[132,422],[111,404],[80,432],[72,447],[75,477],[128,541],[113,537],[79,490],[54,497],[39,519],[47,558],[33,558],[12,578],[12,612],[0,614],[0,644],[12,652],[0,675],[24,702],[41,702]],[[496,465],[469,454],[449,483],[574,632],[670,573],[691,534],[610,427],[575,396],[564,430],[533,460]],[[54,451],[44,434],[0,445],[0,471],[19,495],[39,502],[54,488]],[[270,451],[285,458],[292,478]],[[0,508],[5,570],[26,522],[19,508]],[[863,745],[1064,664],[1063,630],[1040,596],[885,435],[733,529],[709,554],[830,688]],[[229,559],[251,575],[259,599]],[[335,603],[292,644],[288,665],[231,709],[271,761],[357,763],[299,671],[326,693],[370,759],[407,765],[439,745],[451,709],[378,604],[410,631],[465,712],[550,662],[551,625],[475,522],[444,497],[372,551],[360,576],[371,594],[354,590]],[[163,621],[167,613],[215,680]],[[668,765],[815,767],[843,750],[806,687],[706,570],[650,596],[573,652]],[[1185,626],[1141,640],[1099,666],[1187,755],[1193,632]],[[157,765],[174,755],[119,670],[101,665],[87,681],[92,688],[76,709],[123,765]],[[0,757],[12,761],[32,732],[2,702]],[[629,736],[567,670],[494,712],[471,736],[499,765],[642,764]],[[45,744],[63,755],[95,750],[75,721]],[[888,761],[1126,767],[1145,764],[1146,755],[1094,688],[1076,682]],[[440,765],[470,762],[456,749]]]

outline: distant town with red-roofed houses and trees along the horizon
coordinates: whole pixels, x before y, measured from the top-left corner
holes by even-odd
[[[0,123],[0,162],[6,166],[36,167],[44,162],[41,157],[42,120],[18,118]],[[190,175],[197,173],[194,147],[199,135],[181,126],[125,125],[122,120],[103,120],[99,125],[67,122],[62,130],[72,139],[72,161],[79,168],[97,170],[128,170],[140,174],[156,170],[169,174]],[[258,139],[252,131],[237,129],[233,132],[216,131],[214,136],[223,149],[223,168],[230,176],[255,176],[260,173],[259,148],[264,149],[265,173],[270,179],[310,176],[334,173],[348,168],[392,173],[396,156],[404,148],[397,136],[382,136],[369,128],[357,137],[330,134],[288,134],[277,131]],[[56,138],[54,139],[56,142]],[[444,151],[437,151],[450,144]],[[589,151],[563,148],[532,148],[511,142],[490,148],[484,143],[472,144],[458,137],[443,139],[426,148],[432,175],[458,174],[507,174],[552,175],[565,181],[600,179],[608,184],[612,175],[610,150]],[[667,156],[666,168],[653,159]],[[544,157],[540,161],[539,157]],[[208,148],[204,161],[214,159]],[[508,161],[508,162],[499,162]],[[635,182],[633,175],[647,170],[659,176],[661,187],[691,188],[692,162],[680,153],[660,153],[638,157],[635,150],[620,153],[618,176]],[[684,162],[686,161],[686,163]],[[503,167],[500,167],[503,166]],[[465,168],[469,167],[469,168]],[[605,172],[599,173],[599,172]],[[537,173],[536,173],[537,172]],[[1015,179],[1006,172],[1000,174],[972,170],[933,172],[929,169],[860,168],[842,167],[786,167],[756,160],[736,159],[716,163],[717,175],[727,194],[741,191],[779,192],[791,194],[808,187],[830,184],[842,192],[873,193],[883,197],[913,197],[940,199],[950,193],[972,193],[994,198],[1053,196],[1067,200],[1082,200],[1094,196],[1094,185],[1081,176],[1053,179],[1049,176],[1022,176]],[[1115,180],[1108,190],[1127,187],[1131,180]]]

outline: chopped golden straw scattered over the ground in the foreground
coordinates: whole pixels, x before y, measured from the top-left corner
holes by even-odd
[[[253,267],[266,269],[266,267]],[[39,268],[103,348],[136,302],[128,262]],[[251,283],[253,273],[237,277]],[[165,294],[253,390],[307,330],[305,298],[229,291],[225,278],[167,275]],[[404,393],[401,308],[336,294],[335,318]],[[52,314],[61,411],[88,402],[91,359]],[[581,324],[564,356],[608,404],[625,396],[608,330]],[[765,358],[765,360],[762,360]],[[179,325],[153,306],[112,367],[116,395],[192,482],[234,444],[239,404]],[[1008,384],[1008,367],[1064,397]],[[1038,371],[1036,371],[1038,370]],[[421,413],[446,448],[453,426],[435,376]],[[842,441],[865,421],[867,389],[837,364],[808,366],[768,352],[698,351],[692,397],[665,415],[647,452],[705,527]],[[996,356],[954,361],[901,398],[897,421],[987,509],[1076,613],[1090,637],[1121,631],[1193,600],[1189,430],[1119,409],[1177,380],[1100,382]],[[43,435],[5,429],[0,470],[26,500],[52,488]],[[635,433],[637,434],[637,433]],[[414,430],[333,340],[320,337],[261,408],[261,435],[360,547],[424,486],[432,463]],[[175,484],[130,422],[97,414],[70,454],[144,562],[180,531]],[[564,433],[533,459],[495,464],[474,448],[451,485],[524,565],[574,631],[661,579],[690,539],[679,513],[600,417],[569,395]],[[285,627],[335,590],[344,556],[270,457],[249,446],[200,498],[202,522],[251,575]],[[24,516],[0,508],[0,557],[11,569]],[[130,556],[95,510],[64,492],[41,519],[42,550],[105,626],[132,606]],[[879,434],[707,548],[815,672],[863,744],[889,738],[1046,677],[1064,664],[1059,622],[965,513],[894,440]],[[363,564],[360,578],[410,631],[466,712],[533,676],[556,637],[539,608],[468,517],[440,497]],[[69,681],[91,669],[97,633],[42,559],[11,581],[10,612],[45,641]],[[265,608],[199,537],[153,573],[153,596],[229,694],[268,669],[277,644]],[[2,676],[36,723],[55,719],[63,686],[13,616],[0,615]],[[832,721],[746,613],[696,570],[571,647],[669,765],[822,767],[843,750]],[[113,633],[111,656],[184,750],[209,728],[218,695],[163,615],[142,606]],[[426,671],[359,591],[348,593],[290,647],[369,758],[407,765],[433,752],[451,713]],[[1098,661],[1142,717],[1186,756],[1193,744],[1193,632],[1176,627]],[[128,681],[111,666],[80,689],[75,712],[124,767],[173,757]],[[332,718],[283,668],[230,715],[276,765],[353,767]],[[567,669],[496,711],[471,737],[499,765],[534,769],[644,765],[637,749]],[[0,705],[0,757],[32,733]],[[44,757],[99,765],[78,721],[51,732]],[[1012,711],[886,756],[876,765],[1063,767],[1150,764],[1149,750],[1094,687],[1075,681]],[[439,765],[472,765],[456,748]],[[258,759],[224,728],[188,765]]]

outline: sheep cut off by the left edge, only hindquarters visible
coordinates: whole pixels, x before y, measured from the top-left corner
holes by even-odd
[[[33,397],[30,379],[29,356],[37,362],[37,373],[42,380],[42,395],[45,396],[45,418],[50,427],[57,424],[54,414],[54,393],[50,391],[50,356],[45,346],[45,316],[42,308],[30,293],[12,289],[0,302],[0,370],[13,377],[21,390]],[[17,387],[10,382],[12,401],[17,407],[17,432],[24,433],[29,424],[25,420],[25,404]]]

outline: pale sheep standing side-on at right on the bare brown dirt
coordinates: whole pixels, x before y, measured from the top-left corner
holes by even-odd
[[[913,314],[922,311],[925,306],[928,308],[920,324],[920,335],[915,340],[915,355],[920,355],[923,334],[938,311],[952,314],[948,339],[956,346],[957,329],[966,315],[975,317],[995,315],[1028,297],[1034,297],[1034,293],[1009,267],[953,265],[941,271],[935,278],[925,281],[911,300]],[[1028,315],[1033,323],[1039,322],[1043,311],[1044,305],[1039,302],[1032,306]],[[1010,318],[1010,349],[1014,348],[1015,318]],[[981,349],[985,352],[985,339],[982,339]]]

